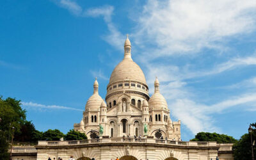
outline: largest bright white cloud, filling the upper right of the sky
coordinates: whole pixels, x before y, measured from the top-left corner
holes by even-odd
[[[149,0],[138,15],[136,43],[147,44],[147,55],[191,54],[223,49],[230,37],[255,31],[256,1]]]

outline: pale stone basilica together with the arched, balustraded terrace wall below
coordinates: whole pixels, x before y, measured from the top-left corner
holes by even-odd
[[[97,79],[83,118],[74,130],[88,140],[38,141],[35,146],[13,147],[12,158],[28,160],[234,160],[233,144],[181,141],[180,120],[172,122],[158,79],[150,97],[145,76],[132,60],[127,36],[124,60],[113,70],[105,99]]]

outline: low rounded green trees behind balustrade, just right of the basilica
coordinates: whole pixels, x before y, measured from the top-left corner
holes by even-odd
[[[235,143],[237,140],[226,134],[218,134],[216,132],[198,132],[195,138],[190,141],[217,141],[217,143]]]

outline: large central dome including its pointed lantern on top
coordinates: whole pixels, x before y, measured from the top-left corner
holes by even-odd
[[[146,83],[145,76],[140,68],[131,58],[131,42],[127,36],[124,44],[125,54],[122,60],[113,70],[109,79],[109,84],[116,81],[133,80],[140,83]]]

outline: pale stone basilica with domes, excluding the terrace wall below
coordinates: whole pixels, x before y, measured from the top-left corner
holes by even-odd
[[[180,140],[180,120],[173,122],[170,109],[160,92],[156,77],[154,94],[150,97],[141,70],[131,56],[131,42],[124,43],[124,59],[116,65],[109,79],[105,100],[99,95],[97,79],[93,95],[87,100],[83,118],[74,130],[89,139],[99,136],[154,136]]]

